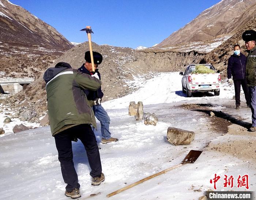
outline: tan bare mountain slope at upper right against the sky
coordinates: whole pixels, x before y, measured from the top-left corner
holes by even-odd
[[[173,46],[233,35],[256,15],[256,0],[222,0],[158,44]]]

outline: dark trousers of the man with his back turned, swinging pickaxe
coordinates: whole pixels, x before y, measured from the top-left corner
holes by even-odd
[[[66,191],[68,192],[80,188],[73,162],[72,139],[74,136],[81,140],[86,149],[91,168],[90,175],[92,177],[100,176],[102,171],[97,141],[89,124],[77,125],[56,134],[54,136],[55,144],[59,153],[61,173],[64,182],[67,184]]]

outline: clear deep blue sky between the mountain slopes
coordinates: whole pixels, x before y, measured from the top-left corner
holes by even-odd
[[[56,28],[70,42],[151,47],[220,0],[10,0]]]

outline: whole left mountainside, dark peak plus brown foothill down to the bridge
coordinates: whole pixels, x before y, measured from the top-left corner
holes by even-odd
[[[37,77],[73,45],[55,28],[8,0],[0,0],[0,71]]]

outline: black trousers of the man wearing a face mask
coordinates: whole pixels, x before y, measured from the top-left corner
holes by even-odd
[[[245,96],[246,104],[250,105],[249,89],[248,89],[248,86],[247,86],[246,79],[234,80],[236,105],[240,106],[241,85],[242,85],[242,89],[244,90],[244,96]]]

